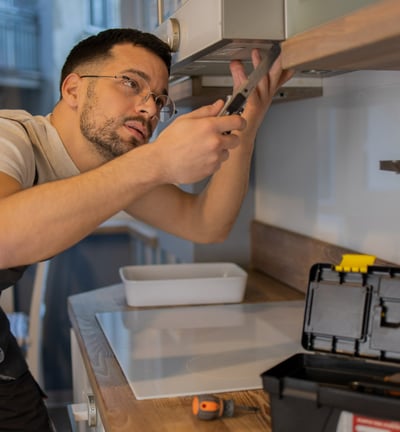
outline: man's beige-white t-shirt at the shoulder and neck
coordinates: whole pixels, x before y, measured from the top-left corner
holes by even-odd
[[[0,110],[0,171],[31,187],[72,177],[79,170],[68,155],[50,114],[32,116],[23,110]]]

